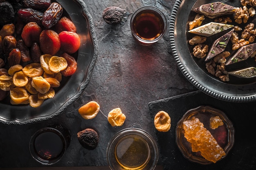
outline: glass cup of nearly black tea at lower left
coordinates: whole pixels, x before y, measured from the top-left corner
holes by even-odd
[[[70,144],[70,133],[61,125],[40,129],[32,135],[29,150],[32,157],[43,165],[52,165],[63,157]]]

